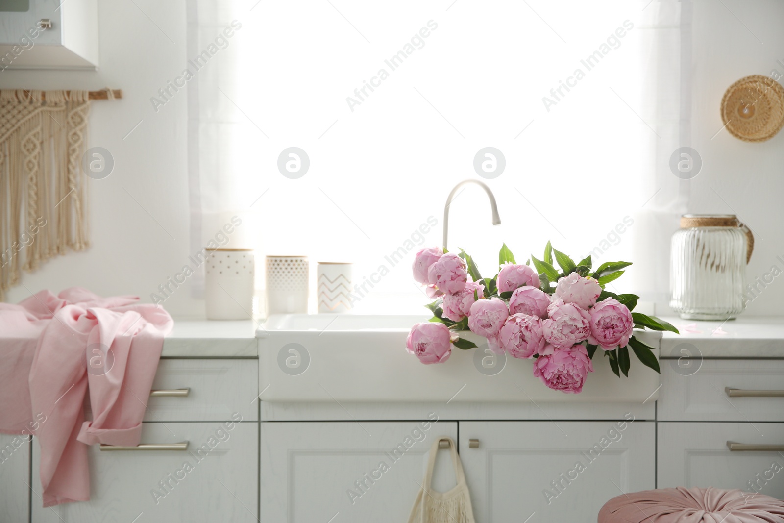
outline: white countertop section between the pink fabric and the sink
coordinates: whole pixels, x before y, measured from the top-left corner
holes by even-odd
[[[162,358],[256,358],[256,321],[175,320]]]

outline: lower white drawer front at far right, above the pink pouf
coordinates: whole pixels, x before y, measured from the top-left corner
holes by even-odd
[[[784,499],[784,423],[659,423],[659,487],[740,488]]]

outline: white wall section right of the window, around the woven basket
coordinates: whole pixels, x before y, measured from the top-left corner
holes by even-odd
[[[773,70],[784,74],[784,65],[776,62],[784,63],[782,22],[784,3],[776,0],[694,2],[691,147],[699,151],[703,166],[691,180],[689,210],[736,213],[751,227],[756,242],[750,281],[763,278],[773,265],[784,271],[776,259],[784,260],[784,133],[763,143],[742,142],[726,130],[716,134],[724,125],[719,107],[736,80]],[[779,276],[745,314],[784,314],[782,292],[784,276]]]

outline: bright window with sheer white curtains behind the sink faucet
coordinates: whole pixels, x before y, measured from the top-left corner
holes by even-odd
[[[445,198],[474,178],[502,224],[468,186],[448,246],[486,274],[502,242],[523,262],[550,239],[639,262],[656,300],[679,210],[681,35],[680,2],[190,0],[194,249],[236,214],[230,242],[259,259],[354,262],[372,283],[356,311],[419,311],[413,255],[441,244]],[[289,147],[303,176],[278,168]],[[492,179],[474,168],[485,147],[505,162]]]

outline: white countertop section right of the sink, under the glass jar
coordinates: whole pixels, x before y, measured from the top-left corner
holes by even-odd
[[[661,358],[680,358],[684,344],[703,358],[784,358],[784,317],[741,316],[729,321],[666,318],[681,331],[664,332]]]

